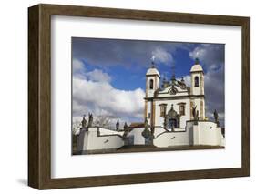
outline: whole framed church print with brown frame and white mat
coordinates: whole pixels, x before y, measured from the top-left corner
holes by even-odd
[[[250,20],[28,9],[28,185],[250,174]]]

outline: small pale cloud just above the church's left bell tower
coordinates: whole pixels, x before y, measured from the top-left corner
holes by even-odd
[[[152,56],[154,56],[156,61],[166,63],[167,65],[172,65],[170,63],[174,62],[172,55],[164,48],[159,46],[152,51]]]

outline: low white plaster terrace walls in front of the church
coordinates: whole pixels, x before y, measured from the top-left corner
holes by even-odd
[[[144,145],[145,138],[142,136],[144,128],[134,128],[128,136],[134,137],[134,145]],[[113,131],[107,128],[88,128],[79,134],[78,150],[113,149],[124,146],[124,141],[120,137],[123,131]],[[155,139],[153,143],[159,148],[183,145],[210,145],[224,146],[225,139],[221,134],[221,128],[217,128],[216,123],[210,121],[188,122],[187,128],[176,128],[175,131],[168,131],[165,128],[155,128]]]

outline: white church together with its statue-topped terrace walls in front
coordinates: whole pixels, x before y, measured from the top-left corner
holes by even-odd
[[[172,76],[160,83],[154,63],[146,73],[144,97],[145,122],[117,130],[92,126],[80,129],[77,139],[79,153],[115,152],[124,146],[153,146],[155,148],[191,148],[193,146],[224,148],[218,114],[210,121],[205,112],[204,72],[196,60],[190,69],[190,87]]]

